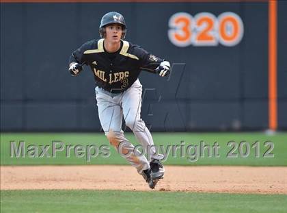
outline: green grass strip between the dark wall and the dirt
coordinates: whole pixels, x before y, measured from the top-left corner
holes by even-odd
[[[126,134],[127,138],[137,144],[133,134]],[[264,133],[154,133],[152,134],[156,145],[163,145],[167,148],[167,145],[180,145],[180,141],[184,141],[184,157],[180,158],[180,149],[174,152],[175,158],[172,155],[172,149],[169,153],[165,164],[173,165],[246,165],[246,166],[287,166],[287,133],[278,133],[273,136],[268,136]],[[71,149],[70,158],[66,158],[66,151],[56,153],[55,158],[16,158],[10,157],[10,141],[15,141],[18,145],[20,140],[25,141],[25,149],[27,153],[28,145],[51,145],[54,140],[64,142],[65,145],[106,145],[109,148],[111,155],[109,158],[103,158],[102,155],[98,155],[96,158],[91,158],[90,162],[87,162],[87,155],[83,153],[81,158],[77,158]],[[226,155],[232,147],[228,147],[228,142],[234,140],[237,144],[245,140],[250,146],[250,153],[247,158],[238,155],[238,158],[227,158]],[[191,154],[195,149],[190,149],[187,152],[188,145],[200,145],[200,141],[204,141],[205,145],[212,146],[215,142],[219,144],[219,158],[215,158],[213,149],[211,149],[213,155],[210,158],[207,156],[207,150],[204,152],[204,156],[200,156],[197,152],[198,159],[191,161]],[[255,148],[251,148],[254,142],[259,141],[260,151],[258,158],[256,158]],[[274,149],[271,153],[274,154],[273,158],[264,158],[263,154],[267,151],[268,147],[264,147],[264,142],[271,141],[274,144]],[[245,148],[245,147],[244,147]],[[243,150],[245,151],[245,150]],[[39,150],[40,154],[41,150]],[[49,149],[51,155],[51,148]],[[93,151],[92,151],[93,153]],[[234,151],[238,154],[238,149]],[[31,154],[31,152],[30,152]],[[27,134],[1,134],[1,164],[2,165],[36,165],[36,164],[127,164],[126,161],[115,152],[113,147],[109,147],[109,142],[104,134],[59,134],[59,133],[27,133]]]

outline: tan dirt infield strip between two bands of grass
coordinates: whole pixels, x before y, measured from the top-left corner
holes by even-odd
[[[287,167],[165,166],[155,190],[287,194]],[[131,166],[1,166],[1,190],[150,190]]]

